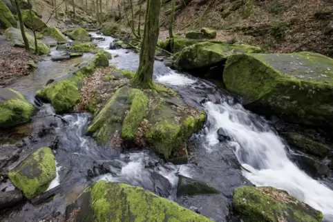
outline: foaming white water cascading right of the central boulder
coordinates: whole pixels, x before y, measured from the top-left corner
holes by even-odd
[[[169,85],[193,84],[193,79],[175,72],[157,80]],[[296,199],[321,210],[328,221],[333,221],[333,191],[307,176],[288,159],[283,140],[267,121],[245,110],[239,103],[229,105],[227,101],[220,104],[208,101],[204,108],[208,115],[205,132],[208,152],[219,143],[217,130],[223,128],[231,138],[229,146],[234,149],[238,161],[249,170],[243,171],[249,181],[286,190]]]

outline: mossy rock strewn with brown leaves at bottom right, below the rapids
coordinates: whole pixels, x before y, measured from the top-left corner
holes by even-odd
[[[246,222],[319,222],[323,219],[320,211],[272,187],[236,188],[233,207]]]

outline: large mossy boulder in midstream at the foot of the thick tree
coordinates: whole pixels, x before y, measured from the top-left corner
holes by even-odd
[[[129,79],[133,77],[131,72],[122,73]],[[175,157],[174,153],[182,154],[175,151],[186,151],[184,143],[202,128],[206,116],[184,103],[173,90],[157,87],[162,91],[129,86],[118,89],[95,115],[88,133],[99,143],[123,140],[138,146],[151,145],[165,159]]]

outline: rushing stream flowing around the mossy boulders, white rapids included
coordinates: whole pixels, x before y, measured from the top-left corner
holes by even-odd
[[[91,34],[99,37],[94,32]],[[124,49],[108,50],[113,40],[112,37],[105,37],[105,41],[97,41],[97,45],[113,56],[119,55],[111,59],[111,64],[135,71],[139,56]],[[51,53],[57,53],[57,50],[53,49]],[[84,54],[82,58],[62,62],[53,62],[50,57],[45,57],[44,61],[38,63],[39,68],[35,74],[23,77],[8,87],[19,90],[34,102],[35,92],[48,79],[61,79],[59,73],[92,56]],[[62,117],[68,121],[68,124],[64,124],[59,118],[48,116],[53,113],[50,105],[37,104],[39,112],[32,124],[52,125],[53,130],[50,135],[31,143],[28,149],[23,150],[19,161],[32,150],[49,145],[50,140],[57,136],[57,178],[48,189],[59,185],[60,192],[53,199],[36,206],[26,202],[2,218],[0,216],[0,219],[43,221],[50,214],[63,214],[66,205],[77,198],[88,181],[108,180],[139,185],[186,208],[196,209],[215,221],[237,221],[230,218],[229,214],[232,194],[238,186],[251,183],[271,185],[286,190],[298,200],[321,210],[324,221],[333,221],[333,191],[329,188],[332,184],[312,179],[291,161],[291,151],[287,143],[278,136],[272,123],[245,110],[233,97],[213,83],[175,72],[161,61],[155,61],[153,79],[177,90],[187,103],[202,108],[207,113],[205,127],[190,139],[189,164],[166,163],[149,150],[127,152],[99,146],[91,137],[85,136],[87,125],[91,121],[90,114],[64,114]],[[225,130],[230,141],[218,141],[219,128]],[[99,168],[100,165],[108,168],[109,172],[105,174]],[[89,176],[89,169],[95,169],[93,176]],[[178,174],[208,181],[221,194],[176,197]],[[13,187],[8,186],[8,190],[10,189]]]

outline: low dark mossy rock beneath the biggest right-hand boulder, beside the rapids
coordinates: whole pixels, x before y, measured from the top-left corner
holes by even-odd
[[[296,132],[287,133],[286,139],[295,148],[318,157],[325,157],[330,151],[330,148],[327,145],[308,139]]]

